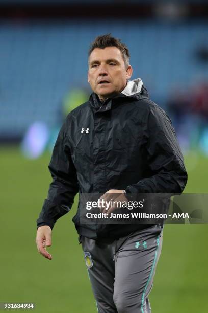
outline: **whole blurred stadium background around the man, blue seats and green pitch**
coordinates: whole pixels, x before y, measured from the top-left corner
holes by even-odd
[[[0,302],[96,312],[71,221],[77,201],[53,230],[53,261],[35,245],[51,147],[64,116],[90,93],[87,51],[96,35],[111,32],[127,44],[133,78],[173,120],[188,170],[185,192],[207,193],[207,16],[201,0],[0,0]],[[165,226],[154,313],[207,311],[206,238],[207,225]]]

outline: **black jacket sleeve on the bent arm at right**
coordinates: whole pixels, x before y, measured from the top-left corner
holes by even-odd
[[[187,183],[183,155],[172,123],[157,105],[150,107],[145,123],[145,150],[149,177],[128,186],[131,193],[181,193]]]

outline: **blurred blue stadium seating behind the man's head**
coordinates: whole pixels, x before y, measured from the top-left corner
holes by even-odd
[[[87,82],[87,51],[96,35],[111,32],[131,51],[133,78],[163,105],[173,86],[208,78],[193,53],[208,38],[208,24],[150,21],[0,24],[0,133],[22,136],[38,120],[58,122],[68,89]]]

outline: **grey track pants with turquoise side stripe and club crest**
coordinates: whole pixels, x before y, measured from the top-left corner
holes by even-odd
[[[160,225],[118,240],[82,237],[99,313],[151,312],[148,294],[162,248]]]

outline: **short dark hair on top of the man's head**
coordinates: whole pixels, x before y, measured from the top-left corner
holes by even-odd
[[[95,48],[104,49],[106,47],[116,47],[120,50],[125,66],[129,65],[130,53],[128,51],[127,46],[121,42],[121,39],[115,38],[111,36],[111,33],[100,35],[95,38],[95,40],[91,43],[88,57],[90,57],[92,51]]]

